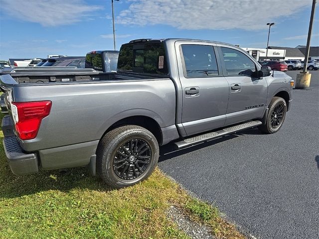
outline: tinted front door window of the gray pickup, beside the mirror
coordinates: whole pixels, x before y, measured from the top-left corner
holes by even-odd
[[[244,53],[227,47],[221,47],[221,50],[228,75],[252,76],[256,72],[255,63]]]

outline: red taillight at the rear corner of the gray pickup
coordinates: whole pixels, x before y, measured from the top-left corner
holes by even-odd
[[[41,120],[50,114],[51,101],[12,102],[11,109],[15,129],[20,139],[35,138]],[[14,107],[15,106],[15,107]]]

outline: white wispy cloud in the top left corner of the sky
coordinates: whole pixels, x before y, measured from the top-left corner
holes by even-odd
[[[82,0],[1,0],[1,8],[8,15],[43,26],[69,25],[87,12],[102,9]]]

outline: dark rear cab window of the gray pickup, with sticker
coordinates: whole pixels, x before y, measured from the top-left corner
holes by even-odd
[[[136,49],[135,49],[136,48]],[[118,69],[167,75],[166,54],[162,43],[145,43],[121,47]]]

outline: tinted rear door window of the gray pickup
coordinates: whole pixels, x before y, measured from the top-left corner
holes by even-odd
[[[212,46],[181,45],[185,77],[218,76],[215,51]]]

